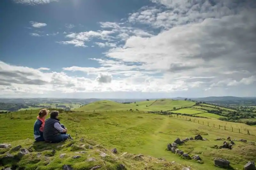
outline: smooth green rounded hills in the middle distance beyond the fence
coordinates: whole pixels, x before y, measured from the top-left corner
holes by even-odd
[[[97,101],[93,103],[89,103],[83,107],[75,109],[76,111],[106,111],[106,110],[140,110],[140,111],[166,111],[173,110],[173,107],[181,108],[181,107],[191,107],[195,104],[195,102],[190,101],[182,101],[182,100],[172,100],[172,99],[159,99],[159,100],[151,100],[151,101],[141,101],[136,103],[117,103],[114,101]]]

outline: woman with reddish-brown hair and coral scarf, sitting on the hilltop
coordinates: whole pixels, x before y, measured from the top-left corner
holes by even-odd
[[[44,141],[43,131],[44,131],[44,122],[45,117],[48,115],[49,110],[41,109],[37,116],[36,122],[34,124],[34,138],[36,142]]]

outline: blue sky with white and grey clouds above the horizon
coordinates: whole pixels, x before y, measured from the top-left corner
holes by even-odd
[[[0,4],[0,97],[256,96],[253,0]]]

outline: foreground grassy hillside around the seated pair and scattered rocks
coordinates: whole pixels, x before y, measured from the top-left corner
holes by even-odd
[[[61,113],[61,123],[65,124],[69,133],[78,138],[71,142],[65,142],[61,145],[38,143],[33,144],[33,124],[35,122],[37,112],[25,114],[23,111],[17,114],[8,114],[8,117],[1,115],[0,118],[0,143],[12,144],[13,146],[22,145],[22,147],[32,146],[33,152],[24,156],[17,163],[20,167],[26,169],[61,169],[64,164],[71,165],[74,169],[91,169],[93,166],[101,165],[99,169],[118,169],[119,164],[124,164],[127,169],[182,169],[181,165],[191,166],[195,170],[218,170],[213,165],[213,158],[220,157],[228,159],[232,167],[242,169],[249,160],[256,157],[256,147],[250,141],[256,142],[256,127],[245,124],[222,122],[217,119],[193,118],[192,121],[186,121],[191,117],[169,117],[165,115],[140,113],[140,112],[79,112],[79,113]],[[199,121],[199,123],[197,123]],[[194,123],[195,122],[195,123]],[[204,123],[204,125],[203,125]],[[209,126],[208,126],[209,125]],[[220,129],[219,129],[220,125]],[[214,127],[213,127],[214,126]],[[224,130],[224,126],[226,130]],[[233,132],[231,128],[233,127]],[[238,133],[238,128],[241,129]],[[5,129],[5,130],[3,130]],[[247,129],[252,135],[247,135]],[[184,145],[180,145],[179,149],[187,152],[190,156],[197,154],[203,164],[197,163],[195,160],[184,160],[177,154],[166,151],[166,144],[172,143],[177,137],[183,139],[187,137],[195,137],[201,134],[206,141],[187,141]],[[248,142],[243,143],[235,140],[232,150],[215,149],[214,145],[222,145],[223,141],[216,141],[216,138],[227,138],[237,140],[243,138]],[[85,141],[79,139],[84,138]],[[118,154],[113,155],[109,150],[107,152],[110,157],[101,158],[103,152],[102,145],[108,149],[117,148]],[[88,145],[94,146],[94,149],[88,149]],[[57,147],[58,146],[58,147]],[[87,147],[87,150],[84,149]],[[52,153],[52,149],[56,153]],[[2,159],[6,149],[0,149],[0,158]],[[85,153],[75,153],[86,151]],[[41,157],[37,158],[37,152],[41,152]],[[121,156],[124,152],[128,152],[125,156]],[[66,153],[63,159],[60,154]],[[144,159],[135,160],[134,156],[129,153],[143,154]],[[17,152],[13,153],[14,155]],[[80,155],[81,158],[73,159],[72,156]],[[44,157],[46,156],[46,157]],[[154,158],[164,158],[161,161]],[[87,158],[94,157],[96,161],[88,162]],[[172,161],[175,161],[172,165]],[[3,161],[0,161],[3,164]],[[51,163],[50,163],[51,162]],[[158,162],[158,163],[156,163]],[[165,165],[165,166],[164,166]],[[171,166],[172,165],[172,166]],[[2,165],[3,166],[3,165]],[[10,162],[4,162],[4,166],[10,166]],[[1,169],[1,167],[0,167]]]

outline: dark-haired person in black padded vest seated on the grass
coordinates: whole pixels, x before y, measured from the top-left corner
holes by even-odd
[[[63,124],[60,124],[59,112],[54,110],[50,113],[50,118],[45,120],[43,136],[45,142],[59,143],[67,139],[72,139],[67,134],[67,128]],[[73,139],[72,139],[73,140]]]

